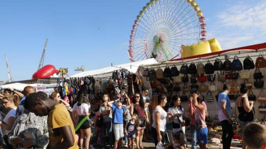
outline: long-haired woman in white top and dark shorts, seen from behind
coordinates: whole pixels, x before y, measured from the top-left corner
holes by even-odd
[[[79,101],[77,102],[77,106],[74,108],[76,110],[77,115],[79,115],[79,122],[86,116],[90,115],[90,104],[89,104],[89,98],[87,95],[81,95],[79,97]],[[79,139],[79,145],[80,148],[83,149],[83,140],[85,138],[85,135],[87,135],[85,140],[85,148],[89,149],[89,140],[91,137],[91,129],[90,129],[90,123],[89,119],[86,120],[81,126],[80,126],[80,139]]]

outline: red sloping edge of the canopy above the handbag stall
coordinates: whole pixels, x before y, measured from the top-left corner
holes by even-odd
[[[222,54],[228,51],[235,51],[235,50],[242,50],[242,49],[258,50],[258,49],[263,49],[263,48],[266,48],[266,42],[256,44],[256,45],[248,45],[248,46],[240,47],[240,48],[233,48],[233,49],[228,49],[228,50],[207,53],[207,54],[200,54],[200,55],[195,55],[195,56],[190,56],[190,57],[177,58],[177,59],[170,60],[170,61],[180,61],[180,60],[187,60],[187,59],[193,59],[193,58],[199,58],[199,57],[207,57],[207,56],[212,56],[212,55],[219,55],[219,54]]]

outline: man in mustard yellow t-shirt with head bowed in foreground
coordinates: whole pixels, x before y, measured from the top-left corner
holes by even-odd
[[[40,93],[26,97],[25,109],[37,116],[48,115],[50,149],[78,149],[75,142],[75,129],[64,104],[60,104]]]

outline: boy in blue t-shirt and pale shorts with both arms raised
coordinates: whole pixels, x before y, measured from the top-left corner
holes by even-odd
[[[118,94],[120,93],[116,93],[116,96],[119,96]],[[125,100],[127,100],[127,106],[122,105],[120,98],[108,102],[108,106],[111,107],[113,111],[113,130],[115,135],[114,149],[117,149],[118,144],[119,148],[122,149],[122,138],[124,136],[123,115],[131,106],[130,99],[126,94]]]

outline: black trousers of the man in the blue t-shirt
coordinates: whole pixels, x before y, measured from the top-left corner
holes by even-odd
[[[222,148],[230,149],[233,138],[233,126],[229,124],[228,120],[223,120],[222,124]]]

